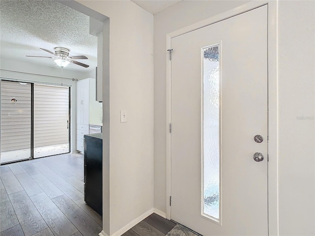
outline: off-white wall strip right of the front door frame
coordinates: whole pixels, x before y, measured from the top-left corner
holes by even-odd
[[[315,235],[315,1],[279,1],[279,226]]]

